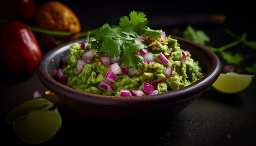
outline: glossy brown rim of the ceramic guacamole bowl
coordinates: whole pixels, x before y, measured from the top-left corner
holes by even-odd
[[[208,50],[204,46],[200,44],[196,44],[192,41],[186,40],[184,38],[180,38],[179,36],[171,36],[179,42],[189,44],[190,46],[197,47],[198,49],[202,50],[204,54],[210,59],[211,68],[208,72],[204,75],[204,77],[200,78],[196,82],[192,83],[191,85],[185,86],[182,89],[178,89],[175,91],[169,91],[162,94],[156,95],[146,95],[146,96],[132,96],[132,97],[115,97],[115,96],[104,96],[99,94],[91,94],[88,92],[78,91],[73,88],[69,88],[66,85],[62,85],[61,83],[54,80],[54,78],[49,75],[45,68],[49,60],[47,58],[52,57],[52,55],[57,54],[57,52],[63,52],[63,49],[66,50],[65,46],[71,45],[73,43],[85,41],[86,38],[80,38],[78,40],[69,41],[68,43],[62,44],[60,46],[55,47],[52,50],[46,52],[43,55],[40,62],[37,66],[37,75],[41,83],[43,83],[46,88],[51,90],[57,95],[60,95],[62,98],[64,97],[66,100],[69,101],[76,101],[76,102],[90,102],[90,103],[97,103],[97,104],[116,104],[116,103],[127,103],[127,102],[166,102],[168,100],[178,101],[184,100],[188,97],[194,96],[196,94],[201,93],[208,87],[210,87],[215,80],[219,77],[221,73],[221,61],[214,54],[212,51]],[[64,96],[63,96],[64,95]],[[68,96],[66,96],[68,95]],[[186,96],[185,96],[186,95]]]

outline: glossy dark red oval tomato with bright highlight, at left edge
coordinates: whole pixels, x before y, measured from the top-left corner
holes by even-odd
[[[43,53],[32,30],[18,21],[1,28],[0,53],[6,66],[18,74],[32,74]]]

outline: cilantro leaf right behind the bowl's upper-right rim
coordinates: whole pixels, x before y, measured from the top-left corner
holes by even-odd
[[[194,30],[191,26],[188,26],[183,32],[183,38],[201,44],[202,46],[205,46],[205,43],[210,42],[210,37],[207,36],[203,30]]]

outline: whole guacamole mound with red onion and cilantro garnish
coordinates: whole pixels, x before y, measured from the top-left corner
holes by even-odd
[[[162,30],[149,29],[143,12],[104,24],[85,43],[74,43],[55,71],[60,83],[106,96],[144,96],[177,90],[203,77],[198,61]],[[65,79],[63,79],[65,77]]]

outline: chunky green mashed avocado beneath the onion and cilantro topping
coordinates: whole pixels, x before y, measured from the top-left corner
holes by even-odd
[[[74,43],[69,48],[69,55],[66,57],[67,64],[62,69],[63,74],[69,76],[66,86],[93,94],[121,96],[120,92],[123,90],[143,91],[143,83],[146,82],[153,85],[154,81],[159,81],[156,85],[154,84],[154,91],[162,94],[188,86],[204,75],[198,61],[194,61],[189,52],[186,53],[187,57],[182,62],[183,55],[185,55],[182,52],[185,50],[180,49],[177,40],[166,37],[165,40],[159,41],[159,44],[155,43],[155,47],[150,45],[152,44],[151,41],[147,41],[145,38],[141,40],[145,46],[148,46],[146,54],[150,54],[152,58],[146,58],[146,54],[138,54],[144,57],[144,60],[137,68],[125,67],[122,60],[120,58],[118,60],[118,57],[115,58],[117,60],[115,63],[118,65],[117,68],[112,68],[110,66],[114,64],[111,61],[113,58],[109,57],[111,63],[106,65],[107,63],[104,63],[105,60],[102,57],[107,57],[107,55],[101,54],[97,50],[82,49],[81,44]],[[77,60],[83,58],[85,52],[89,51],[95,52],[93,57],[83,59],[84,66],[80,66],[82,71],[77,71]],[[168,63],[163,63],[160,55],[164,55]],[[172,67],[172,71],[169,73],[166,72],[168,66]],[[114,82],[106,77],[109,69],[117,71],[121,69],[121,72],[115,74]],[[147,93],[145,92],[145,94]]]

